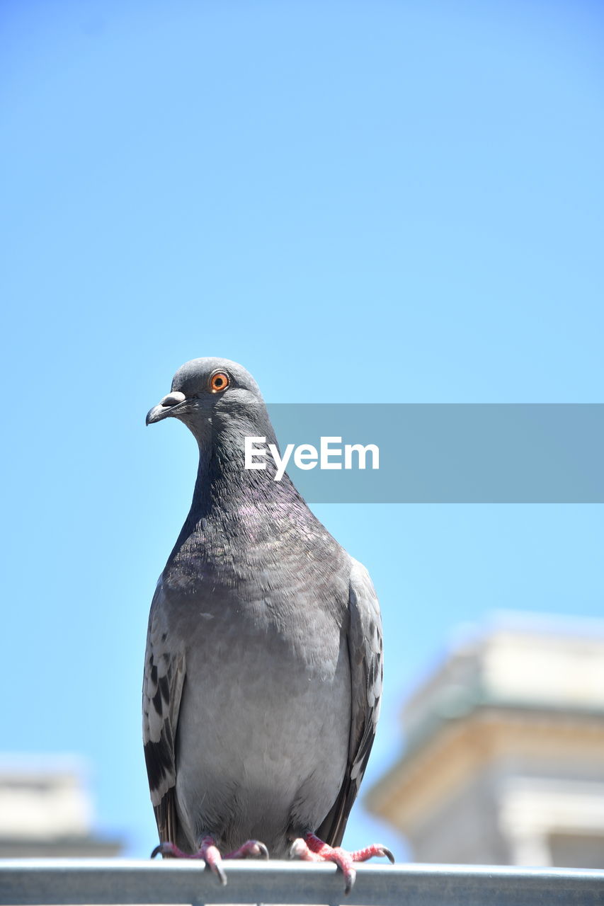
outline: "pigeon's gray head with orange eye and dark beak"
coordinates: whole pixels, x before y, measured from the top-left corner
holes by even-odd
[[[267,410],[249,371],[229,359],[192,359],[174,375],[172,389],[147,413],[147,424],[174,417],[199,440],[209,433],[254,433]],[[256,431],[258,433],[258,431]]]

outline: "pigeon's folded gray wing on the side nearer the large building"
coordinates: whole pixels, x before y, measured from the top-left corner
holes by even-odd
[[[339,846],[374,744],[382,698],[382,618],[374,585],[365,566],[352,560],[348,597],[348,655],[351,720],[346,775],[336,802],[317,835]]]

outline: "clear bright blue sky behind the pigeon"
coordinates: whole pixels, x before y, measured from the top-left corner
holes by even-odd
[[[0,747],[86,757],[129,853],[196,465],[145,413],[203,355],[271,402],[604,401],[603,26],[586,0],[1,5]],[[315,509],[382,602],[366,786],[460,624],[604,612],[601,506]],[[357,805],[345,842],[374,836],[404,854]]]

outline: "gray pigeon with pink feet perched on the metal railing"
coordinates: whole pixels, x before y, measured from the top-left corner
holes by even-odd
[[[277,444],[253,377],[202,358],[147,424],[197,440],[189,515],[151,602],[144,754],[161,843],[226,882],[223,859],[354,865],[392,853],[340,843],[375,737],[382,627],[365,567],[276,467],[245,468],[246,437]]]

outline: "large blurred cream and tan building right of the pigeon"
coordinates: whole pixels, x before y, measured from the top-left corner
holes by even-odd
[[[509,615],[404,706],[367,805],[418,862],[604,868],[604,623]]]

